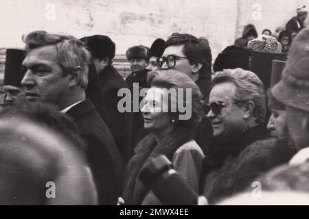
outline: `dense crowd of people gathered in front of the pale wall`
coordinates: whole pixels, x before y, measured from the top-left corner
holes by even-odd
[[[209,205],[254,203],[254,182],[266,203],[308,200],[307,15],[277,35],[247,25],[214,65],[191,34],[130,47],[125,79],[108,36],[23,36],[5,58],[0,204],[161,205],[140,179],[159,155]],[[125,112],[124,89],[139,92]]]

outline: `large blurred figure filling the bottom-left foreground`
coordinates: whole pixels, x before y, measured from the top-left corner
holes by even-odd
[[[98,204],[82,140],[67,116],[35,105],[0,120],[1,205]]]

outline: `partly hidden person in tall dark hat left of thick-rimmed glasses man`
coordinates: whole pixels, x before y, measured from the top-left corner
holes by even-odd
[[[158,59],[162,56],[165,49],[165,41],[161,38],[158,38],[154,42],[152,42],[152,45],[149,49],[149,64],[146,67],[147,70],[150,71],[150,73],[155,72],[156,70],[159,70],[161,67]],[[149,73],[148,73],[149,75]]]

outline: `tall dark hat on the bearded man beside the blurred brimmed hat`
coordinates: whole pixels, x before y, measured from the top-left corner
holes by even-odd
[[[286,66],[286,62],[273,60],[271,70],[271,88],[273,88],[273,86],[280,81],[284,66]],[[277,99],[275,99],[275,97],[271,94],[270,90],[268,90],[268,107],[277,110],[286,110],[284,104],[277,101]]]

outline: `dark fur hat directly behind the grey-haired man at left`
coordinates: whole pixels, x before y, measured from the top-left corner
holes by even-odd
[[[102,60],[105,57],[108,57],[110,60],[113,60],[115,57],[115,42],[113,42],[108,36],[85,36],[80,40],[86,44],[87,49],[90,51],[94,59]]]

